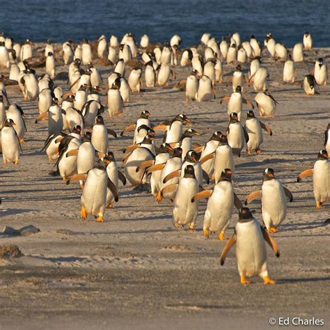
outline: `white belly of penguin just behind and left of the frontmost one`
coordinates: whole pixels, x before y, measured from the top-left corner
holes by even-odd
[[[230,223],[233,207],[233,185],[227,181],[217,183],[207,202],[203,229],[224,233]]]

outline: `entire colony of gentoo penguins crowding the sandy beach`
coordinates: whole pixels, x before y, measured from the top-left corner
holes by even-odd
[[[292,202],[293,197],[276,178],[274,169],[265,168],[260,190],[248,194],[244,201],[248,205],[256,198],[261,199],[261,224],[235,194],[235,157],[241,157],[244,150],[244,157],[252,152],[259,155],[264,139],[262,130],[269,136],[273,134],[259,119],[273,118],[278,105],[269,93],[269,73],[262,65],[262,56],[268,54],[282,61],[283,82],[304,87],[306,95],[317,95],[327,84],[327,61],[316,58],[313,72],[306,74],[303,81],[297,81],[296,63],[304,61],[304,52],[310,51],[313,45],[309,33],[304,34],[302,43],[294,45],[292,52],[276,42],[272,33],[265,37],[264,47],[254,36],[241,42],[239,33],[223,37],[220,42],[210,33],[204,33],[198,48],[180,49],[180,44],[181,38],[177,35],[163,46],[151,45],[148,36],[143,35],[138,45],[132,33],[127,33],[120,42],[116,36],[111,36],[109,42],[106,36],[100,36],[94,52],[86,39],[79,45],[68,40],[56,54],[54,45],[47,40],[42,58],[37,58],[31,40],[20,45],[2,34],[0,67],[9,70],[8,77],[2,74],[0,79],[3,164],[19,164],[24,134],[29,128],[25,125],[22,107],[10,102],[6,93],[6,84],[14,84],[22,93],[20,104],[24,100],[38,100],[36,125],[47,121],[48,129],[41,151],[55,164],[52,175],[61,176],[66,184],[79,182],[81,218],[92,215],[96,221],[104,221],[105,211],[119,200],[119,182],[123,185],[129,182],[135,189],[148,187],[158,203],[163,199],[173,202],[175,228],[187,226],[194,230],[198,201],[207,198],[203,219],[205,237],[217,233],[219,239],[224,240],[236,207],[239,219],[235,233],[221,253],[221,265],[230,247],[236,244],[240,282],[248,284],[246,277],[260,276],[264,283],[274,284],[267,271],[265,243],[278,257],[278,246],[270,233],[281,229],[288,201]],[[107,81],[103,81],[93,64],[95,61],[103,61],[111,68]],[[67,91],[55,84],[58,63],[68,68]],[[216,98],[214,86],[224,84],[223,77],[228,72],[223,72],[223,63],[235,65],[226,82],[233,85],[233,93],[224,95],[219,102],[228,102],[226,132],[215,131],[204,145],[198,145],[193,143],[193,138],[201,134],[191,127],[191,120],[184,113],[154,125],[150,122],[151,111],[146,110],[120,132],[120,136],[124,136],[134,131],[134,137],[132,144],[123,150],[123,163],[118,166],[109,135],[113,139],[120,136],[105,125],[104,116],[125,116],[125,103],[129,102],[130,95],[141,93],[144,87],[142,77],[146,88],[162,88],[170,84],[171,77],[175,79],[173,68],[191,67],[187,79],[181,80],[178,86],[185,91],[187,102],[207,102]],[[247,75],[241,65],[249,65]],[[45,69],[42,74],[36,74],[33,67]],[[257,92],[255,104],[244,97],[244,88],[250,85]],[[104,93],[106,101],[102,104]],[[249,107],[249,111],[245,111],[245,107]],[[162,139],[156,139],[157,134],[161,134]],[[324,148],[315,152],[314,167],[297,178],[300,182],[308,175],[313,176],[317,209],[330,201],[330,123],[324,136]],[[157,140],[162,142],[156,143]],[[212,188],[205,189],[207,184]]]

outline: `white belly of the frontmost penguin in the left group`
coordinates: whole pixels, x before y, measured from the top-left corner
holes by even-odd
[[[81,195],[81,205],[94,217],[102,216],[107,199],[107,172],[93,168],[88,176]]]

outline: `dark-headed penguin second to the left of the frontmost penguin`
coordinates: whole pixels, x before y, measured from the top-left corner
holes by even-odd
[[[167,186],[167,189],[168,187],[171,186]],[[198,201],[192,203],[191,198],[198,193],[199,189],[199,182],[195,177],[194,166],[187,165],[184,168],[183,178],[178,183],[178,191],[174,198],[173,225],[175,228],[189,225],[189,230],[195,229],[195,222],[198,215]]]

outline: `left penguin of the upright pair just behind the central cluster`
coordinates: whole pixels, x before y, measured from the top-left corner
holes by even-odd
[[[241,151],[244,148],[244,144],[249,141],[249,135],[246,130],[239,123],[237,113],[230,113],[229,125],[226,130],[229,146],[233,149],[233,153],[238,157],[241,157]]]

